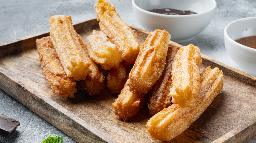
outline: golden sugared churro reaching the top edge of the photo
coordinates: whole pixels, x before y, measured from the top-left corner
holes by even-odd
[[[98,0],[94,7],[102,32],[118,46],[126,65],[133,64],[139,54],[138,36],[117,14],[115,5]]]

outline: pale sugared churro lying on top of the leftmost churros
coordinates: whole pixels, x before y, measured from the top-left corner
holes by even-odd
[[[61,64],[68,77],[85,79],[90,73],[89,56],[83,52],[71,17],[55,15],[50,20],[50,36]]]

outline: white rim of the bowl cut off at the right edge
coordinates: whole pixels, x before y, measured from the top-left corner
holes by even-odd
[[[251,47],[247,47],[243,44],[240,44],[238,42],[236,42],[235,40],[231,39],[228,34],[227,34],[227,29],[229,28],[230,25],[236,23],[236,22],[239,22],[239,21],[243,21],[243,20],[251,20],[251,19],[256,19],[256,17],[245,17],[245,18],[241,18],[241,19],[237,19],[237,20],[234,20],[232,22],[230,22],[229,24],[226,25],[225,29],[224,29],[224,37],[226,37],[229,41],[231,41],[232,44],[236,44],[238,45],[238,47],[241,47],[242,49],[245,49],[247,51],[252,51],[252,52],[256,52],[256,49],[254,48],[251,48]],[[254,36],[254,35],[252,35]],[[225,41],[224,41],[225,42]],[[226,47],[225,47],[226,48]],[[240,48],[240,49],[241,49]]]

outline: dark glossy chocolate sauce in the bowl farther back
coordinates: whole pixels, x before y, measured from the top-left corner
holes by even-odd
[[[178,9],[172,9],[172,8],[163,8],[163,9],[154,8],[150,12],[160,13],[160,14],[165,14],[165,15],[190,15],[190,14],[197,14],[196,12],[191,11],[191,10],[178,10]]]

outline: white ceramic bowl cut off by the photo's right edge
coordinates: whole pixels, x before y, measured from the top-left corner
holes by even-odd
[[[224,43],[227,54],[242,71],[256,76],[256,49],[234,41],[243,37],[256,35],[256,17],[235,20],[224,29]]]

